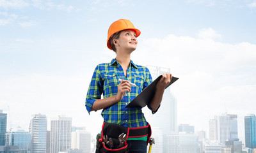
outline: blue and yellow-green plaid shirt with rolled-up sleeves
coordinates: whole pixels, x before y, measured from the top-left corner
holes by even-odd
[[[147,126],[147,121],[140,107],[125,108],[132,99],[138,96],[152,82],[148,69],[144,66],[136,65],[132,61],[127,69],[127,77],[124,75],[122,66],[115,59],[110,63],[99,64],[95,68],[86,96],[85,106],[88,113],[90,114],[94,101],[100,99],[102,93],[104,98],[117,94],[118,85],[120,84],[118,78],[130,80],[137,86],[131,87],[131,92],[127,92],[121,101],[102,110],[101,115],[104,121],[129,128]]]

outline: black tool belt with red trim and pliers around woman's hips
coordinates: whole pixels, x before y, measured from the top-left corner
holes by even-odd
[[[127,128],[118,124],[103,122],[101,134],[97,135],[96,153],[127,153],[127,138],[147,136],[147,144],[151,136],[151,127]]]

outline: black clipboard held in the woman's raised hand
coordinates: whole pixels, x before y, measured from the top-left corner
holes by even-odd
[[[154,82],[152,82],[150,85],[148,85],[143,91],[136,96],[125,108],[131,108],[131,107],[145,107],[150,101],[153,99],[154,94],[156,92],[156,84],[161,79],[162,75],[156,78]],[[172,80],[170,84],[168,84],[166,88],[168,88],[173,82],[177,81],[179,78],[172,77]]]

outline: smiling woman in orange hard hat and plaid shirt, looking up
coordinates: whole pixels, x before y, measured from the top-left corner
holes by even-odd
[[[107,46],[116,52],[116,57],[110,63],[99,64],[95,68],[86,96],[86,109],[89,114],[93,110],[103,109],[101,114],[106,123],[147,130],[150,127],[141,108],[125,108],[152,82],[148,69],[131,61],[131,53],[138,45],[138,36],[140,30],[136,29],[129,20],[120,19],[110,25]],[[148,105],[152,113],[159,108],[164,89],[171,79],[172,75],[165,73],[157,83],[156,94]],[[100,99],[102,93],[104,99]],[[128,144],[129,152],[147,152],[149,137],[149,135],[134,134],[128,136],[125,144]],[[108,143],[109,147],[109,138],[107,140],[105,143]]]

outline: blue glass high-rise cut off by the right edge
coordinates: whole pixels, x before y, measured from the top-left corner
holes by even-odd
[[[256,148],[256,117],[249,114],[244,117],[245,146],[250,149]]]

